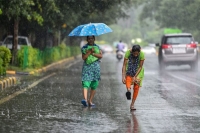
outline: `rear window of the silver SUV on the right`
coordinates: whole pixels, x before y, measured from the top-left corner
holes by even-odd
[[[188,44],[192,42],[191,36],[167,37],[166,44]]]

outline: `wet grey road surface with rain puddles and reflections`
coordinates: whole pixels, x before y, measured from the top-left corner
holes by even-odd
[[[129,111],[121,83],[122,61],[104,55],[95,108],[80,103],[81,67],[78,60],[62,70],[26,78],[18,93],[4,92],[7,101],[0,101],[0,133],[200,132],[200,73],[189,66],[168,67],[161,73],[157,56],[146,55],[134,112]]]

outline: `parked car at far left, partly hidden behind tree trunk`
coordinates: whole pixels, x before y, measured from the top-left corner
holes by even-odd
[[[9,35],[7,36],[1,46],[5,46],[7,48],[9,48],[10,50],[12,49],[12,42],[13,42],[13,36]],[[17,49],[20,49],[21,46],[31,46],[30,41],[28,40],[28,37],[26,36],[18,36],[18,45],[17,45]]]

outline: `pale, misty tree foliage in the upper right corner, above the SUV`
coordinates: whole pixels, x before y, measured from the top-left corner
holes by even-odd
[[[155,19],[160,27],[179,28],[184,32],[199,32],[199,0],[143,0],[140,20]]]

